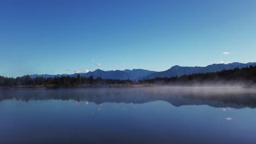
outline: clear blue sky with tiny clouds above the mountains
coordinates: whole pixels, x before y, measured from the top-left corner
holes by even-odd
[[[2,0],[0,75],[255,62],[255,15],[253,0]]]

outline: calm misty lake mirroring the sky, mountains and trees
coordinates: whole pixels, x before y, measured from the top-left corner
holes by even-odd
[[[256,89],[0,89],[0,143],[256,143]]]

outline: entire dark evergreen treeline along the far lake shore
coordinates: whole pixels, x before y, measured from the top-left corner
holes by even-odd
[[[87,86],[106,86],[106,85],[190,85],[191,83],[206,83],[206,82],[247,82],[256,83],[256,66],[246,68],[235,68],[232,70],[222,70],[212,73],[200,73],[183,75],[180,77],[156,77],[154,79],[143,80],[117,80],[117,79],[102,79],[101,77],[94,78],[82,77],[79,74],[77,77],[62,76],[54,78],[36,77],[31,78],[29,75],[21,77],[4,77],[0,76],[0,86],[2,87],[17,87],[17,86],[61,86],[61,87],[77,87],[81,85]]]

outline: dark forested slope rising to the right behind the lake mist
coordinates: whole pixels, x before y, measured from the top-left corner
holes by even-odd
[[[138,83],[153,83],[156,85],[193,85],[195,83],[256,83],[256,66],[235,68],[211,73],[182,75],[180,77],[156,77],[154,79],[138,80]]]

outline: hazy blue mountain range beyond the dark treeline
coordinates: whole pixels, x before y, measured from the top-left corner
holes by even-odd
[[[119,80],[139,80],[139,79],[153,79],[155,77],[173,77],[173,76],[182,76],[196,73],[208,73],[208,72],[216,72],[221,70],[235,69],[235,68],[245,68],[250,65],[256,66],[256,62],[254,63],[229,63],[229,64],[211,64],[206,67],[181,67],[179,65],[175,65],[170,69],[165,71],[151,71],[144,69],[126,69],[126,70],[109,70],[104,71],[97,69],[95,71],[89,71],[88,73],[79,73],[83,77],[102,77],[103,79],[119,79]],[[75,77],[78,74],[62,74],[62,75],[30,75],[32,78],[34,77],[61,77],[61,76],[71,76]]]

